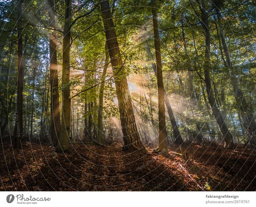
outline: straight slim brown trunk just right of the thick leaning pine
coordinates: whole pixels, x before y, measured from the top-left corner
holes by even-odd
[[[166,156],[168,155],[167,150],[167,132],[165,123],[165,108],[164,108],[164,84],[163,84],[163,71],[162,71],[162,60],[160,51],[160,39],[157,23],[156,13],[156,1],[152,0],[152,16],[153,16],[153,27],[154,27],[154,40],[155,40],[155,51],[156,51],[156,78],[157,78],[157,92],[158,92],[158,149]]]

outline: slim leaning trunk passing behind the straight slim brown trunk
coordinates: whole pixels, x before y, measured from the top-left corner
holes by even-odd
[[[149,59],[153,61],[154,59],[153,59],[151,50],[148,47],[148,44],[147,44],[146,41],[145,41],[145,46],[146,46],[146,49],[147,49],[147,52],[148,52]],[[157,74],[156,74],[156,64],[152,62],[151,65],[153,67],[155,75],[157,76]],[[173,135],[174,135],[174,143],[175,144],[182,144],[183,139],[180,135],[180,130],[179,130],[179,127],[176,123],[174,114],[172,112],[172,107],[171,107],[170,101],[168,99],[168,96],[166,95],[165,89],[164,89],[164,103],[165,103],[165,106],[167,108],[167,112],[168,112],[168,115],[169,115],[169,118],[170,118],[170,121],[171,121],[171,124],[172,124]]]

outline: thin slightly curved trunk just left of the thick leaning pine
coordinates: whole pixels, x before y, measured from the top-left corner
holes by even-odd
[[[104,97],[104,86],[106,77],[106,72],[108,68],[108,62],[109,62],[109,54],[108,54],[108,44],[106,42],[105,44],[105,54],[106,54],[106,59],[105,59],[105,65],[103,67],[103,72],[101,75],[101,84],[100,84],[100,95],[99,95],[99,109],[98,109],[98,142],[99,144],[103,144],[103,127],[102,127],[102,113],[103,113],[103,97]]]

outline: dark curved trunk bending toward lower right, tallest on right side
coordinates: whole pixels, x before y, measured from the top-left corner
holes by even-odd
[[[226,123],[222,117],[221,111],[216,105],[216,100],[213,95],[212,90],[212,82],[210,77],[210,30],[209,30],[209,24],[208,24],[208,14],[206,14],[205,10],[205,1],[202,0],[202,8],[201,8],[201,18],[202,18],[202,26],[204,28],[205,32],[205,55],[204,55],[204,79],[205,79],[205,86],[206,86],[206,92],[208,95],[209,104],[212,109],[212,114],[214,115],[216,122],[220,128],[220,132],[224,137],[225,144],[228,147],[229,144],[234,146],[233,143],[233,137],[228,130],[228,127],[226,126]]]

